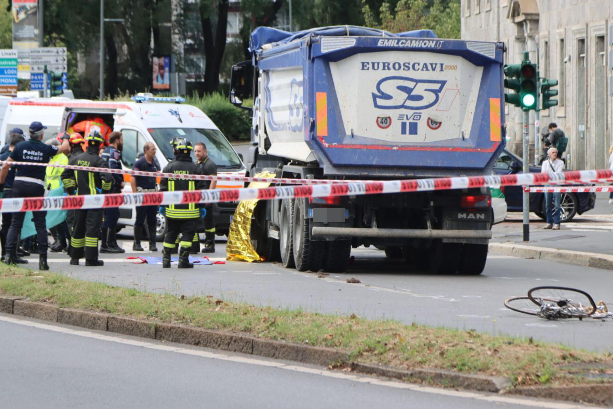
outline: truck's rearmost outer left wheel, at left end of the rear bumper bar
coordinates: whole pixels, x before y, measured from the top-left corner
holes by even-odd
[[[325,241],[311,240],[311,219],[305,217],[307,206],[303,199],[294,201],[292,236],[294,262],[298,271],[319,271]]]

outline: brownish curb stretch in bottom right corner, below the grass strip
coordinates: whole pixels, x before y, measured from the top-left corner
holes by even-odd
[[[613,406],[613,384],[595,384],[585,386],[560,386],[547,388],[546,386],[531,386],[529,388],[516,388],[508,392],[512,395],[538,397],[544,399],[570,400],[591,405]]]

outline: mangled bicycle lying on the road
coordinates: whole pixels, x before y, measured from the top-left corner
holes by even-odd
[[[528,297],[511,297],[504,306],[545,319],[613,318],[604,301],[595,303],[587,292],[569,287],[534,287],[528,290]]]

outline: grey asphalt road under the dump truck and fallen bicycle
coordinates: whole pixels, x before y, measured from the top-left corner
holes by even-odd
[[[133,264],[125,257],[161,257],[161,252],[138,254],[131,252],[129,240],[123,243],[128,252],[102,255],[106,263],[103,267],[84,267],[83,262],[72,266],[65,254],[50,254],[51,269],[75,278],[148,292],[213,295],[256,305],[330,314],[354,313],[406,324],[476,329],[595,351],[613,351],[611,343],[604,341],[613,333],[613,322],[544,321],[507,310],[503,305],[506,298],[525,295],[531,287],[547,284],[579,287],[596,300],[604,299],[613,305],[610,290],[613,274],[609,270],[490,254],[482,275],[430,275],[407,271],[404,262],[387,260],[383,251],[360,247],[352,251],[356,259],[345,274],[318,278],[314,273],[286,269],[280,263],[227,262],[196,266],[192,270]],[[225,260],[223,241],[218,241],[216,250],[211,259]],[[348,278],[359,279],[360,284],[349,284]]]

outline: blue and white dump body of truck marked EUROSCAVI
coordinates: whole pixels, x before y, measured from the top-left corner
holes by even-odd
[[[504,147],[501,43],[258,28],[251,49],[268,155],[327,176],[455,176],[488,173]]]

